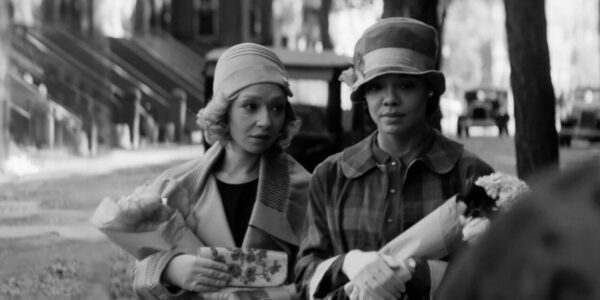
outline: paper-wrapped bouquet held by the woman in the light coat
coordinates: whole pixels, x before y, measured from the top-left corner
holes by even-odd
[[[163,194],[169,194],[169,181]],[[177,249],[194,254],[202,242],[185,224],[181,213],[166,205],[148,186],[118,201],[104,198],[90,222],[119,247],[141,260],[158,251]]]

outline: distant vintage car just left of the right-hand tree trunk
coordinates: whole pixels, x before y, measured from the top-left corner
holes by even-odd
[[[480,87],[465,92],[466,108],[458,117],[458,136],[469,136],[469,127],[497,126],[498,135],[508,135],[507,95],[504,89]]]

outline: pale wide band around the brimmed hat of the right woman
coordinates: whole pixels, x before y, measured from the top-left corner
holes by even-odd
[[[379,48],[363,56],[363,74],[370,71],[402,66],[413,72],[432,70],[434,61],[429,56],[406,48]]]

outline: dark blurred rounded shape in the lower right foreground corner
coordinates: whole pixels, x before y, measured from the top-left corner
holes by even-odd
[[[600,299],[600,162],[542,182],[448,271],[438,300]]]

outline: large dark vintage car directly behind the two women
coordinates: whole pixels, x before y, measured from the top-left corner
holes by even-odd
[[[215,65],[226,48],[213,49],[206,55],[205,95],[212,97],[212,82]],[[298,117],[302,120],[300,132],[292,140],[287,152],[307,170],[327,156],[351,144],[363,128],[361,118],[353,111],[343,111],[341,106],[342,71],[350,67],[347,57],[332,51],[296,52],[272,48],[281,58],[289,77],[294,97],[290,99]],[[356,110],[363,113],[363,110]],[[343,122],[343,120],[350,120]],[[362,135],[366,134],[365,132]]]

